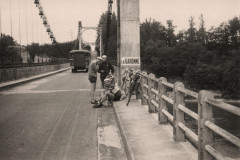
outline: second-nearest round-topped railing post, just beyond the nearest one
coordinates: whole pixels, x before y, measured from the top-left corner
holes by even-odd
[[[185,106],[185,94],[180,92],[178,88],[184,88],[184,84],[181,82],[174,83],[174,104],[173,104],[173,139],[177,142],[185,142],[185,133],[184,131],[178,126],[178,123],[181,122],[185,124],[184,120],[184,112],[182,112],[178,105],[181,104]]]

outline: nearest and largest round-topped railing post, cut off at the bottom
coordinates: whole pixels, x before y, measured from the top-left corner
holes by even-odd
[[[213,131],[205,126],[205,121],[212,122],[212,105],[206,103],[206,98],[213,98],[209,91],[202,90],[198,97],[198,160],[213,160],[206,151],[207,144],[213,144]]]

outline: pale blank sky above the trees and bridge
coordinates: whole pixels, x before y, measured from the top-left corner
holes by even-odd
[[[234,16],[240,16],[240,0],[139,1],[140,22],[152,18],[166,26],[166,21],[170,19],[177,26],[176,32],[188,28],[191,16],[194,17],[198,27],[199,16],[203,14],[207,29],[211,26],[217,27]],[[101,14],[107,10],[108,5],[108,0],[40,0],[40,2],[58,42],[76,39],[78,21],[82,21],[84,27],[97,26]],[[113,11],[116,12],[116,0],[113,0]],[[34,0],[0,0],[0,17],[0,32],[12,34],[18,43],[23,45],[33,41],[40,44],[51,43]],[[85,41],[93,42],[95,38],[95,31],[84,32]]]

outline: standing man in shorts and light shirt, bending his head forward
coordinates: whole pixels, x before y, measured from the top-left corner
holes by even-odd
[[[91,83],[91,91],[90,91],[90,96],[91,96],[91,103],[96,104],[97,101],[94,99],[94,93],[96,90],[96,83],[97,83],[97,72],[99,70],[99,64],[102,63],[102,58],[97,57],[95,60],[93,60],[89,64],[88,68],[88,79]]]

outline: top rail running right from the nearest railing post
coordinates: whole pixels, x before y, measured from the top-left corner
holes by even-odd
[[[228,104],[228,103],[216,100],[216,99],[211,99],[211,98],[206,98],[206,102],[215,107],[221,108],[223,110],[226,110],[228,112],[231,112],[233,114],[240,116],[240,108],[235,107],[231,104]]]

